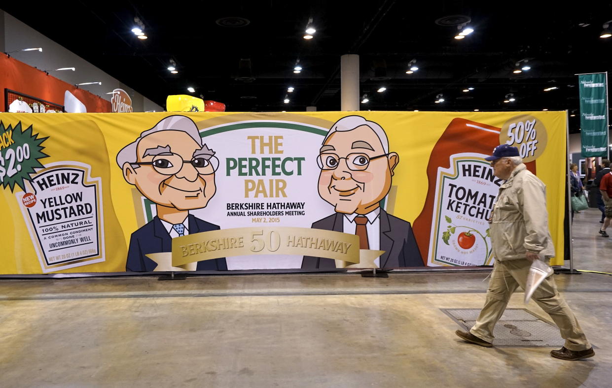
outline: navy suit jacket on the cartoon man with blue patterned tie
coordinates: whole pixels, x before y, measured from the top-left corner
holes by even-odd
[[[195,218],[192,214],[189,214],[188,219],[190,235],[219,229],[218,225]],[[153,271],[157,263],[146,255],[159,252],[172,252],[172,238],[159,217],[155,216],[151,222],[132,233],[125,271]],[[196,267],[196,271],[227,271],[227,269],[225,257],[198,262]]]

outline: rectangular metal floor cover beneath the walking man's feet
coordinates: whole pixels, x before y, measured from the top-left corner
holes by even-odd
[[[442,309],[468,330],[476,323],[480,310]],[[559,329],[526,309],[506,309],[493,329],[495,346],[563,346]]]

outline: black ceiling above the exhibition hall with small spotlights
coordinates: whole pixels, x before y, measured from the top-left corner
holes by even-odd
[[[340,56],[359,54],[361,95],[369,100],[362,110],[571,112],[575,74],[612,70],[612,38],[599,37],[612,3],[542,3],[67,1],[2,9],[162,106],[192,86],[193,95],[228,111],[337,111]],[[455,15],[471,18],[475,30],[463,40],[453,38],[456,26],[436,23]],[[135,16],[146,40],[130,31]],[[305,40],[311,17],[317,31]],[[176,75],[167,70],[170,59]],[[297,59],[300,74],[293,73]],[[408,75],[411,59],[419,70]],[[523,59],[531,70],[513,74]],[[387,90],[376,92],[381,86]],[[439,93],[443,103],[434,102]],[[516,101],[504,103],[507,93]],[[578,117],[570,119],[572,131],[578,126]]]

